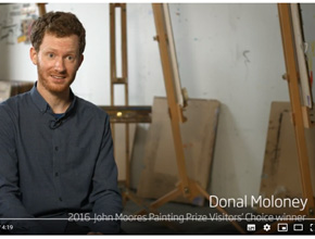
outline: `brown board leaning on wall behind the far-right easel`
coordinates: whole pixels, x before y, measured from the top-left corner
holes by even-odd
[[[305,138],[308,149],[311,175],[315,183],[315,130],[305,129]],[[298,161],[298,151],[294,128],[291,122],[290,102],[273,102],[268,135],[266,141],[265,159],[261,181],[260,194],[270,198],[302,198],[301,175]],[[294,209],[263,209],[260,213],[282,214],[293,213]]]

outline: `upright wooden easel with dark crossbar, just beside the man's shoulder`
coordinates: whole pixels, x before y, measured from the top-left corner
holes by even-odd
[[[116,10],[121,11],[121,60],[122,76],[118,77],[116,64]],[[129,123],[151,123],[151,106],[130,106],[128,102],[128,62],[127,62],[127,8],[126,3],[110,3],[110,41],[111,41],[111,106],[101,106],[111,116],[112,135],[115,140],[115,124],[125,124],[125,164],[126,179],[123,181],[123,201],[130,199],[139,206],[148,209],[147,203],[130,190],[130,150]],[[114,88],[123,85],[125,89],[125,105],[115,105]]]

